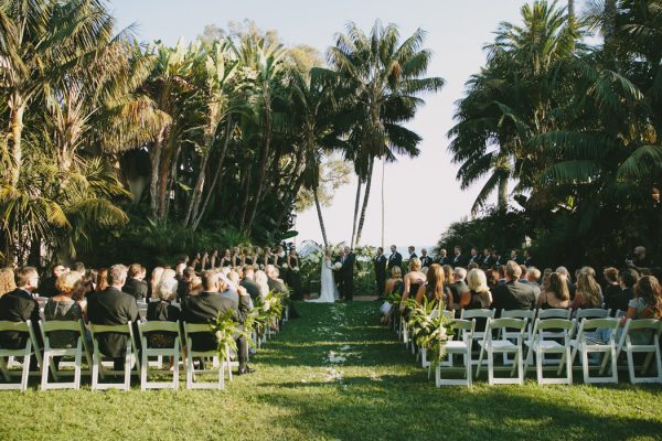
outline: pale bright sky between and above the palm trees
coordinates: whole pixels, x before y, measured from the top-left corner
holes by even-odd
[[[452,126],[455,101],[462,97],[463,84],[484,63],[483,44],[493,40],[492,32],[501,21],[520,21],[525,0],[115,0],[110,9],[121,26],[135,23],[142,41],[186,42],[202,33],[205,24],[222,28],[229,21],[254,20],[261,29],[275,29],[286,44],[308,44],[324,53],[333,34],[344,31],[345,23],[356,22],[365,32],[375,19],[394,22],[406,37],[417,28],[427,31],[426,47],[434,52],[428,76],[446,79],[442,92],[427,96],[409,127],[424,141],[416,159],[401,159],[386,166],[385,241],[398,246],[434,245],[455,220],[469,215],[476,185],[461,191],[447,151],[446,133]],[[563,2],[562,2],[563,3]],[[367,208],[362,244],[381,243],[381,166]],[[323,208],[329,239],[349,241],[355,181],[339,190],[333,205]],[[314,208],[297,218],[299,241],[321,243]]]

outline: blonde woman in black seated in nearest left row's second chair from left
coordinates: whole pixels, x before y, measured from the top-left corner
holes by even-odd
[[[58,294],[53,295],[44,306],[44,318],[51,322],[54,320],[78,321],[83,318],[81,304],[73,299],[83,287],[83,275],[77,271],[68,271],[61,275],[55,281]],[[68,331],[52,332],[49,335],[52,347],[75,347],[77,335]]]

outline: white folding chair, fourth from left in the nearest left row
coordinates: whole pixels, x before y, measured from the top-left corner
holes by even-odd
[[[151,347],[149,345],[149,334],[166,332],[174,335],[172,347]],[[181,353],[181,334],[178,322],[138,322],[138,333],[141,342],[141,364],[140,364],[140,389],[178,389],[179,388],[179,356]],[[168,369],[150,369],[149,357],[172,357],[172,373]],[[149,374],[172,374],[172,381],[149,381]]]

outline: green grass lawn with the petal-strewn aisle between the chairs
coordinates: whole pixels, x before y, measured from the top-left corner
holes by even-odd
[[[0,439],[662,439],[660,386],[437,389],[377,303],[297,308],[226,390],[2,391]]]

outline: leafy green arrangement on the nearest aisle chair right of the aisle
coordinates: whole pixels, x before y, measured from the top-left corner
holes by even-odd
[[[453,335],[452,319],[444,314],[444,302],[424,298],[423,304],[418,304],[409,299],[407,306],[409,308],[407,324],[416,345],[426,348],[431,355],[430,359],[436,358],[438,363],[441,362],[446,355],[446,343]],[[438,310],[439,314],[433,316],[435,310]]]

